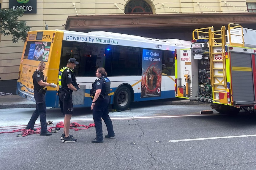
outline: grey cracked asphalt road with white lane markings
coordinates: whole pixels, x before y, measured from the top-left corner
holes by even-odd
[[[0,134],[0,169],[256,169],[255,116],[199,114],[206,109],[211,110],[208,105],[133,106],[110,112],[116,137],[104,143],[91,143],[94,127],[70,130],[76,143],[62,143],[62,131],[52,136]],[[33,110],[0,109],[0,126],[26,124]],[[58,109],[47,112],[54,124],[63,121]],[[71,122],[93,123],[91,111],[76,109]]]

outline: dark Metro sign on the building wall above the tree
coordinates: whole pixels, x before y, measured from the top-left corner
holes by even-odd
[[[9,8],[13,10],[23,8],[24,14],[36,14],[37,0],[9,0]]]

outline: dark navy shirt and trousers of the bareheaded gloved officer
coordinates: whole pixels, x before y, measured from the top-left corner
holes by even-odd
[[[43,86],[38,84],[38,81],[44,80],[43,72],[40,72],[36,69],[32,78],[34,83],[34,98],[36,100],[36,110],[33,112],[29,123],[26,129],[31,129],[34,127],[34,124],[40,116],[40,123],[41,123],[41,133],[47,133],[47,124],[46,124],[46,104],[45,104],[45,90],[43,90]]]

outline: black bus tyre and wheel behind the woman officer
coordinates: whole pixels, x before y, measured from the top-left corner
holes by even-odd
[[[115,92],[115,96],[114,96],[114,109],[117,110],[127,110],[127,108],[130,106],[132,101],[132,95],[131,95],[131,91],[123,86],[121,88],[118,88]]]

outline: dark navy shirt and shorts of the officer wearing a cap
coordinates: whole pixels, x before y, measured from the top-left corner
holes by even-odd
[[[62,114],[73,114],[73,102],[72,102],[72,92],[73,90],[70,90],[68,88],[68,84],[72,83],[72,85],[75,87],[77,85],[76,79],[75,79],[75,73],[67,68],[63,71],[61,75],[61,88],[59,89],[59,104],[61,108]],[[69,97],[65,97],[65,95],[69,95]],[[64,99],[65,97],[65,99]]]

